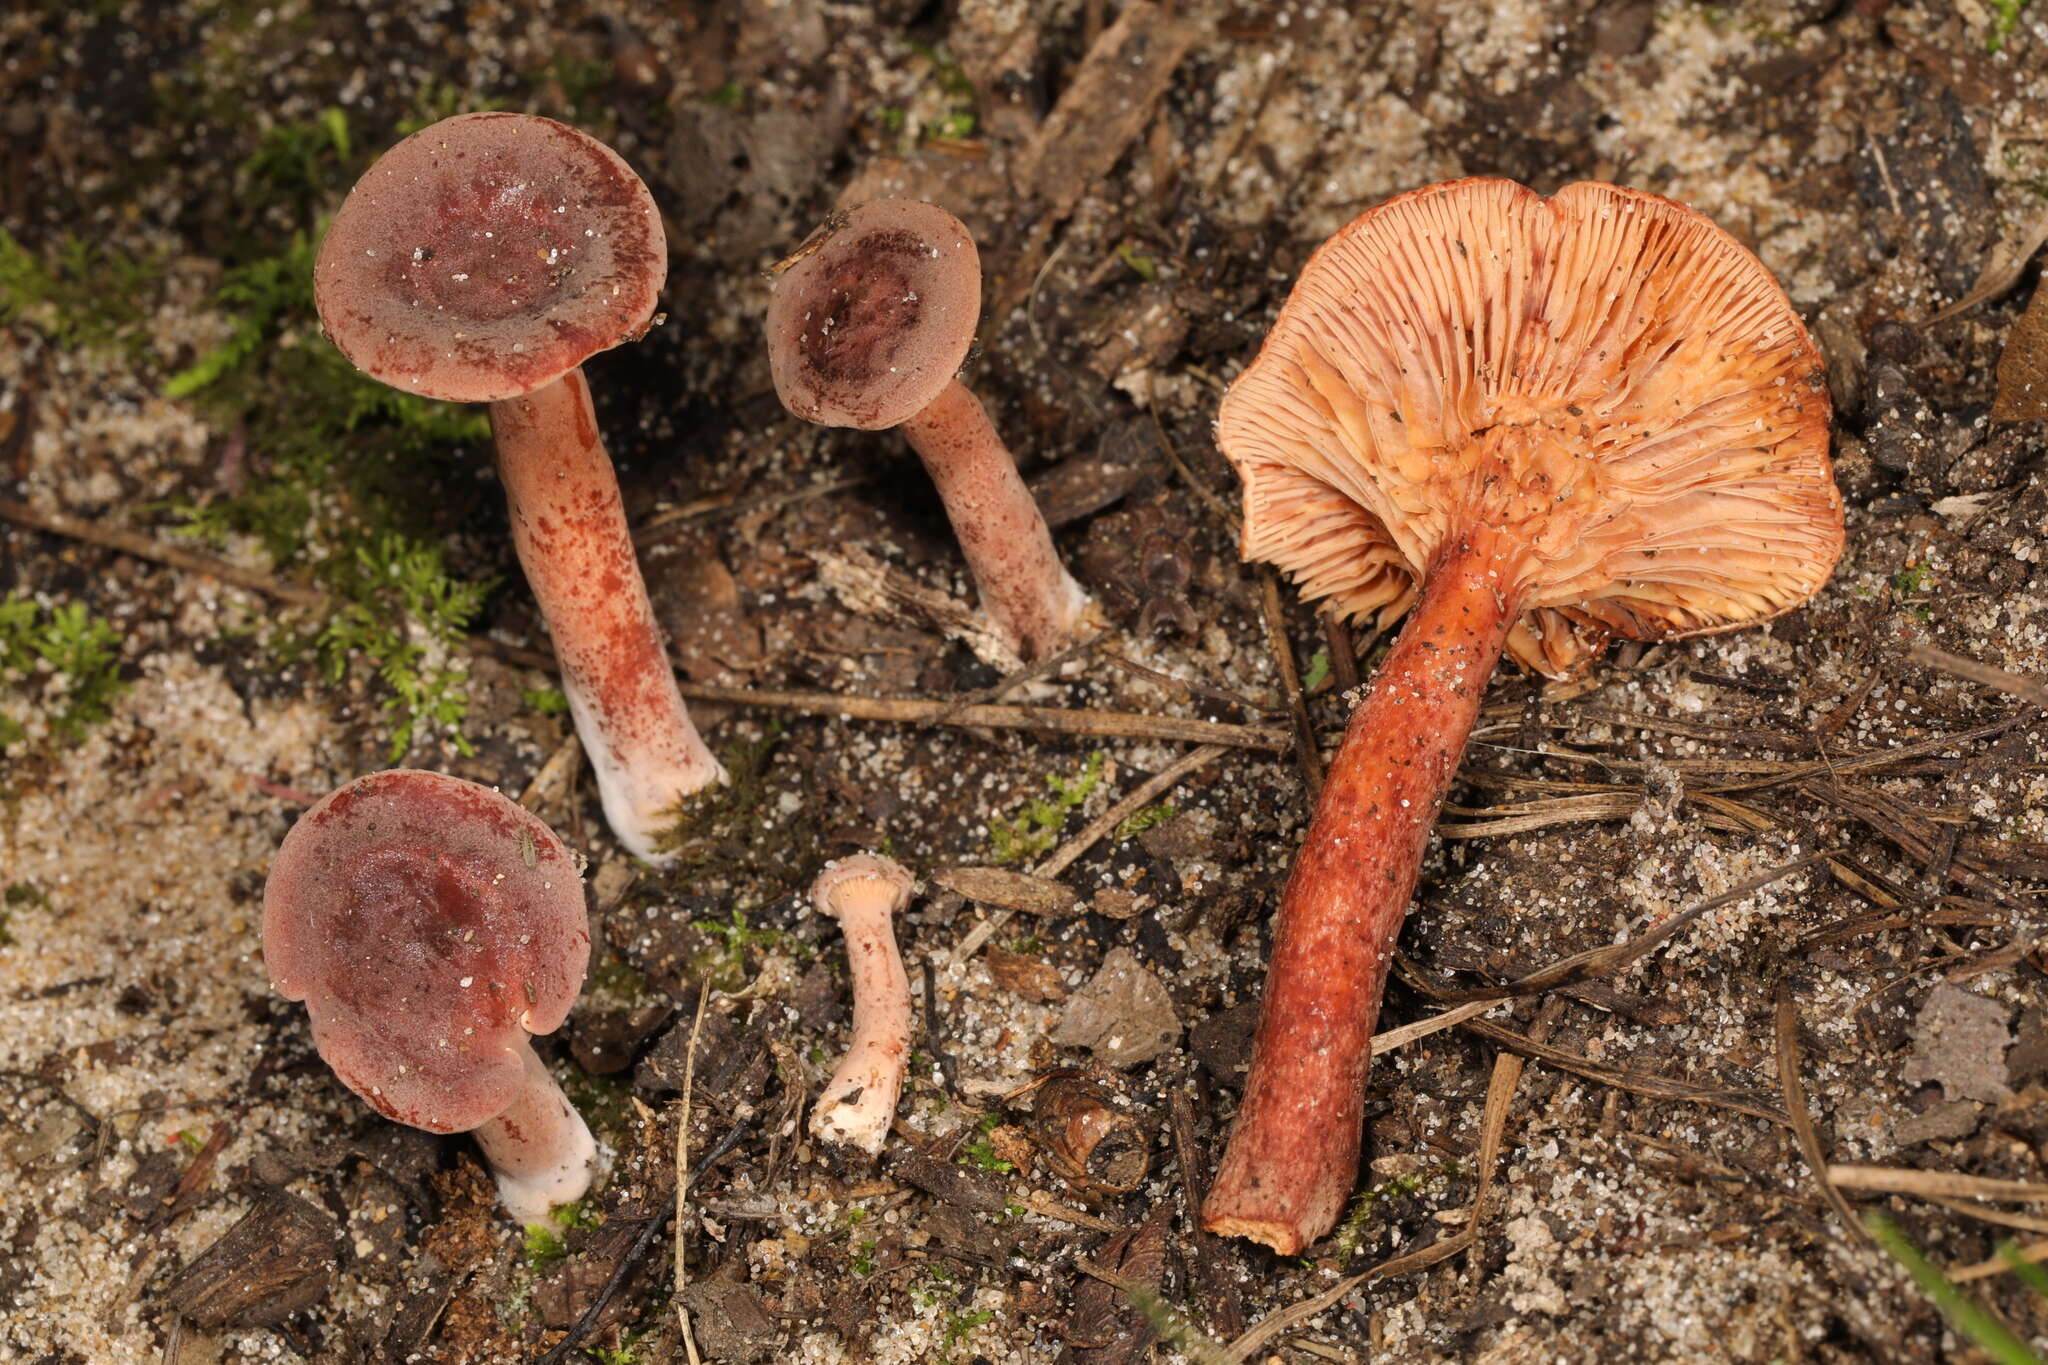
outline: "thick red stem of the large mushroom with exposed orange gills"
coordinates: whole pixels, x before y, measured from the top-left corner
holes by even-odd
[[[1352,712],[1280,900],[1245,1097],[1202,1203],[1210,1232],[1290,1257],[1352,1195],[1395,937],[1520,610],[1520,548],[1452,538]]]

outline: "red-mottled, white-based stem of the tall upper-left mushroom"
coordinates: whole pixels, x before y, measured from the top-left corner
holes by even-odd
[[[725,769],[676,690],[590,385],[578,366],[489,413],[518,561],[555,639],[604,819],[627,849],[662,862],[664,812]]]

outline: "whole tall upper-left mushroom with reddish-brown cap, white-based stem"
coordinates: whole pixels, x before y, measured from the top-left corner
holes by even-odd
[[[313,264],[319,321],[373,379],[489,403],[520,567],[612,833],[723,780],[676,690],[582,364],[647,332],[662,221],[616,151],[553,119],[459,115],[391,147]]]

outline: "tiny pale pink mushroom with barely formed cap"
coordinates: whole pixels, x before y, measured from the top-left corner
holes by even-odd
[[[811,882],[811,905],[846,933],[846,966],[854,976],[854,1038],[811,1107],[811,1134],[870,1156],[883,1150],[903,1093],[909,976],[891,919],[909,905],[915,886],[903,864],[881,853],[829,862]]]

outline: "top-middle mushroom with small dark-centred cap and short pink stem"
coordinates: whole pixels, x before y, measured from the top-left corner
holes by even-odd
[[[1083,624],[1073,581],[989,413],[956,379],[981,317],[981,256],[961,219],[877,199],[805,241],[768,305],[782,405],[819,426],[901,428],[946,503],[981,608],[1020,659]]]

